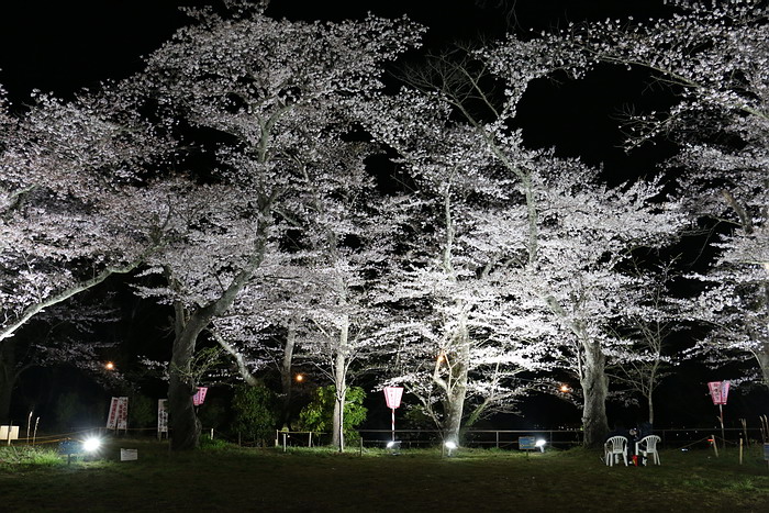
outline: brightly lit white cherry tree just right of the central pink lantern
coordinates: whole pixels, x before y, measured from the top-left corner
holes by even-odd
[[[494,281],[528,261],[534,211],[522,165],[532,154],[515,135],[500,141],[488,126],[454,122],[453,102],[461,101],[428,92],[432,77],[414,81],[425,92],[382,99],[370,127],[399,153],[413,187],[393,215],[400,255],[379,301],[394,306],[398,322],[381,336],[395,354],[388,381],[458,440],[462,425],[513,409],[526,390],[517,375],[538,365],[543,346],[532,332],[540,325],[524,328]]]

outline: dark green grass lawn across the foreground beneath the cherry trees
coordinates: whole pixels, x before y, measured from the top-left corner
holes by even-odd
[[[138,460],[120,461],[120,447]],[[336,454],[110,440],[102,459],[71,465],[0,449],[0,511],[769,512],[760,446],[715,458],[662,450],[659,467],[606,467],[586,449],[459,449]]]

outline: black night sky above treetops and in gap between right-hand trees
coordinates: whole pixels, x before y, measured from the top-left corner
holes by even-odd
[[[29,100],[32,89],[66,97],[80,88],[98,86],[100,80],[121,79],[138,71],[141,56],[157,48],[186,23],[187,18],[178,11],[178,5],[209,2],[70,0],[41,3],[0,3],[0,83],[16,105]],[[513,7],[512,15],[505,15],[505,5]],[[426,44],[433,48],[456,40],[473,40],[479,34],[499,37],[508,26],[525,33],[528,29],[562,26],[569,21],[628,14],[646,19],[669,12],[662,0],[272,0],[268,14],[292,20],[341,20],[359,19],[367,11],[384,16],[408,14],[430,26]],[[625,155],[616,147],[621,132],[615,115],[624,105],[658,101],[649,98],[646,86],[644,77],[616,73],[599,74],[577,83],[535,83],[520,109],[525,141],[535,147],[556,145],[561,156],[581,156],[589,164],[604,164],[610,181],[644,174],[670,148],[646,148]],[[671,391],[676,392],[676,387],[694,387],[680,394],[690,398],[689,394],[696,393],[695,389],[701,386],[673,380]],[[704,394],[704,389],[702,392]],[[682,412],[687,413],[683,403],[669,406],[679,409],[679,417]],[[551,413],[561,411],[555,404],[549,408]],[[665,417],[668,413],[665,405],[660,405],[660,416]],[[669,413],[673,415],[672,411]]]

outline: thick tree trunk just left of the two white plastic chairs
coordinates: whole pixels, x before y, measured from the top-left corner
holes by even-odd
[[[583,445],[586,447],[601,447],[609,434],[606,357],[601,350],[601,344],[597,342],[583,342],[582,348],[584,357],[580,384],[584,395],[584,405],[582,406]]]

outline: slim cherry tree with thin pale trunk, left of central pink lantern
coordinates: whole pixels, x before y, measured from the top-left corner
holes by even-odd
[[[356,170],[357,172],[350,172]],[[311,323],[301,343],[301,358],[312,363],[334,384],[332,444],[344,450],[344,412],[348,382],[361,367],[376,365],[384,343],[376,336],[387,323],[372,304],[370,290],[392,257],[390,223],[375,207],[374,179],[364,168],[347,166],[335,187],[315,188],[313,216],[305,237],[315,256],[305,263],[313,301],[305,309]]]

